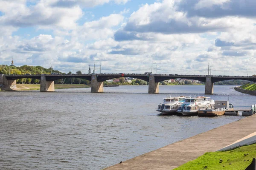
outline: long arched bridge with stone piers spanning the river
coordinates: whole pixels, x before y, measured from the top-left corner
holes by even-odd
[[[54,81],[64,78],[79,78],[91,81],[91,92],[103,92],[103,82],[119,77],[131,77],[145,80],[148,83],[148,93],[159,93],[159,82],[168,79],[193,79],[205,82],[205,94],[213,94],[214,82],[224,80],[248,80],[256,82],[252,76],[213,76],[213,75],[178,75],[178,74],[80,74],[80,75],[4,75],[0,74],[0,87],[4,90],[16,88],[16,80],[32,78],[40,80],[40,91],[54,91]]]

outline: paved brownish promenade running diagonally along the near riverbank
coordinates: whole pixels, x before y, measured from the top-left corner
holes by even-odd
[[[256,132],[256,115],[123,161],[105,170],[172,170]]]

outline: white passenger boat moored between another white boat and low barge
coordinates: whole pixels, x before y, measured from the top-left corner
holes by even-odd
[[[178,107],[177,112],[182,115],[198,114],[198,109],[206,110],[214,108],[214,101],[210,97],[198,96],[184,99],[183,105]]]

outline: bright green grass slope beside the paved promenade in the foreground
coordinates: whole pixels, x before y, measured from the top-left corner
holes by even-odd
[[[248,155],[244,156],[247,153]],[[251,144],[228,151],[207,152],[174,170],[245,170],[255,157],[256,144]],[[220,159],[222,159],[222,163],[219,163]],[[227,161],[228,159],[229,161]],[[207,168],[204,168],[205,166]]]

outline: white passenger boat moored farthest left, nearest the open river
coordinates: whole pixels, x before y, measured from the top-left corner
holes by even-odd
[[[175,114],[178,107],[183,104],[184,99],[187,96],[179,96],[179,97],[171,97],[166,96],[163,98],[163,103],[159,104],[157,107],[157,111],[164,114]]]

